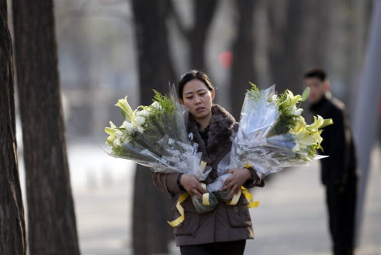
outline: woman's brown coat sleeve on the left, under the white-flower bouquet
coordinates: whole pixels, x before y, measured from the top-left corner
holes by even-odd
[[[163,193],[173,197],[175,194],[184,192],[179,187],[177,179],[180,173],[152,173],[152,179],[155,187]]]

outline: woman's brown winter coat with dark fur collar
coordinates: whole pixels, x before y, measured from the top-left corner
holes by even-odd
[[[202,160],[212,167],[212,171],[204,183],[212,183],[217,178],[218,162],[230,151],[230,137],[234,135],[237,129],[238,123],[235,122],[234,118],[222,107],[213,105],[207,146],[205,146],[198,132],[197,123],[190,115],[188,132],[193,133],[193,140],[198,143],[198,150],[202,152]],[[246,188],[263,186],[263,181],[258,181],[254,170],[250,170],[252,173],[251,180],[254,181],[247,181],[244,186]],[[178,173],[154,173],[153,181],[160,191],[174,196],[184,192],[181,191],[177,183],[178,176]],[[213,211],[198,214],[192,204],[191,197],[188,197],[182,203],[185,210],[185,220],[174,228],[177,246],[253,239],[252,222],[247,204],[246,198],[241,195],[236,206],[220,202]],[[174,219],[180,216],[175,206],[172,210],[174,211]]]

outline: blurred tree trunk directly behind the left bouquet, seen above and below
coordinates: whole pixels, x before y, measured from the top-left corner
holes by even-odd
[[[140,103],[150,104],[152,88],[168,91],[174,82],[166,29],[166,0],[133,0]],[[150,170],[136,168],[133,198],[133,249],[136,255],[168,253],[172,228],[167,224],[171,200],[154,188]]]

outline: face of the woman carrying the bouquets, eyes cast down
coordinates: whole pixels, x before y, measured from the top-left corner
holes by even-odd
[[[194,118],[204,119],[211,115],[214,96],[214,90],[210,91],[201,80],[193,79],[184,85],[180,103],[189,109]]]

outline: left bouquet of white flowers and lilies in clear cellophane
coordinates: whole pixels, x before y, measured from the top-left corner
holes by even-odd
[[[179,104],[174,86],[170,86],[170,97],[154,93],[151,105],[135,110],[127,96],[118,101],[123,124],[118,127],[110,122],[105,128],[110,155],[133,160],[154,172],[192,174],[204,180],[211,168],[200,166],[201,153],[185,126],[188,112]]]

